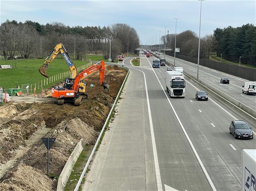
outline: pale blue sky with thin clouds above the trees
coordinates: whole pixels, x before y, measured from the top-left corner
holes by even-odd
[[[200,36],[217,27],[256,25],[256,0],[203,0]],[[200,0],[0,0],[0,22],[7,19],[66,26],[133,27],[141,44],[159,43],[160,35],[185,30],[199,35]],[[166,31],[165,31],[166,27]],[[154,37],[153,37],[154,36]]]

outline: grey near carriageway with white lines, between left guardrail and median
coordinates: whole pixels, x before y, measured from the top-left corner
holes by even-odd
[[[130,75],[118,114],[83,190],[241,190],[241,150],[256,148],[256,139],[229,134],[231,120],[242,119],[240,114],[210,94],[209,101],[195,100],[200,88],[190,81],[185,98],[170,98],[166,67],[152,68],[153,58],[144,55],[140,67],[130,59],[123,61]],[[217,86],[217,80],[211,83]]]

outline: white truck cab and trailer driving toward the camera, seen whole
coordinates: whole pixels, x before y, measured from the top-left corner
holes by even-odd
[[[185,97],[185,77],[177,71],[166,71],[166,90],[171,97]]]

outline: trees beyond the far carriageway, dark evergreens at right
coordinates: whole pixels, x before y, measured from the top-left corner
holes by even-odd
[[[176,48],[180,48],[180,55],[198,57],[198,36],[195,32],[187,30],[176,34]],[[175,34],[161,36],[161,42],[174,50]],[[209,59],[214,52],[230,61],[256,66],[256,26],[246,24],[242,27],[216,28],[212,34],[200,39],[200,58]],[[240,58],[241,56],[241,58]]]

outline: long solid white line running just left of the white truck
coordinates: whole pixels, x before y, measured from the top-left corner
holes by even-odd
[[[150,62],[149,62],[148,59],[147,59],[147,61],[148,61],[148,63],[150,64]],[[150,64],[150,65],[151,65],[151,64]],[[154,70],[153,70],[153,72],[155,73]],[[155,75],[156,75],[156,73],[155,73]],[[159,81],[157,75],[156,75],[156,78],[157,78],[157,80],[158,80],[158,82],[159,82],[159,84],[160,84],[162,90],[164,91],[164,93],[165,93],[165,95],[166,95],[166,98],[167,98],[169,104],[171,105],[171,109],[173,110],[173,112],[174,112],[174,114],[175,114],[175,117],[177,118],[178,122],[180,123],[180,127],[182,128],[182,130],[183,130],[183,132],[184,132],[184,134],[185,134],[187,140],[188,140],[189,143],[190,143],[190,146],[191,146],[192,150],[194,151],[194,155],[196,156],[196,158],[197,158],[197,160],[198,160],[198,162],[199,162],[201,168],[203,169],[204,174],[205,174],[207,180],[209,181],[209,183],[210,183],[210,185],[211,185],[213,191],[217,191],[216,188],[215,188],[215,186],[213,185],[213,182],[212,182],[212,180],[211,180],[209,174],[207,173],[206,169],[204,168],[204,164],[203,164],[203,162],[201,161],[199,155],[197,154],[197,152],[196,152],[196,150],[195,150],[195,148],[194,148],[194,145],[193,145],[192,141],[190,140],[190,137],[188,136],[188,134],[187,134],[185,128],[183,127],[183,124],[181,123],[178,114],[176,113],[174,107],[172,106],[171,101],[170,101],[169,97],[168,97],[167,94],[166,94],[166,91],[164,90],[163,86],[161,85],[161,82]]]

